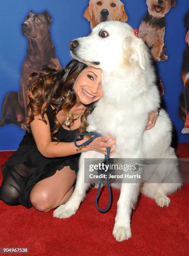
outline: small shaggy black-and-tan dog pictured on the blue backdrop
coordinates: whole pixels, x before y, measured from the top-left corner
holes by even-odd
[[[139,37],[149,47],[155,61],[165,61],[168,59],[164,45],[165,15],[176,6],[176,0],[146,0],[146,4],[148,12],[141,21]]]

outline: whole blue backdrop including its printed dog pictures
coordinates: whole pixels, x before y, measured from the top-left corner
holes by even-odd
[[[176,128],[178,141],[189,142],[189,134],[182,134],[189,133],[187,107],[189,69],[186,70],[188,59],[182,57],[183,52],[184,56],[188,56],[187,47],[189,47],[187,33],[189,21],[186,15],[189,3],[186,2],[184,0],[71,0],[69,2],[7,0],[2,2],[0,150],[15,150],[25,133],[20,126],[26,115],[29,75],[32,72],[38,73],[43,65],[57,69],[64,67],[71,59],[69,41],[87,36],[94,26],[105,20],[120,20],[128,22],[134,29],[139,28],[139,36],[148,45],[157,64],[158,86],[166,110]],[[185,22],[184,17],[186,17]]]

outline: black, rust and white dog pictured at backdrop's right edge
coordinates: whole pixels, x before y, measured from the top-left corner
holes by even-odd
[[[184,24],[186,27],[186,48],[183,53],[181,78],[183,90],[180,95],[179,116],[184,120],[184,128],[182,133],[189,133],[189,11],[184,16]]]

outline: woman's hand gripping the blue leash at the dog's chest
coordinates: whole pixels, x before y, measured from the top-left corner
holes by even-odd
[[[86,147],[86,150],[94,150],[97,152],[101,152],[102,154],[107,155],[106,148],[111,148],[110,150],[110,156],[115,151],[115,144],[116,141],[111,135],[106,135],[103,137],[98,137],[91,141],[91,143]]]

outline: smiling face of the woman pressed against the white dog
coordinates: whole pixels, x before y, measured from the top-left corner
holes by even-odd
[[[93,67],[86,67],[78,74],[73,85],[77,102],[88,105],[102,97],[101,77],[102,70]]]

